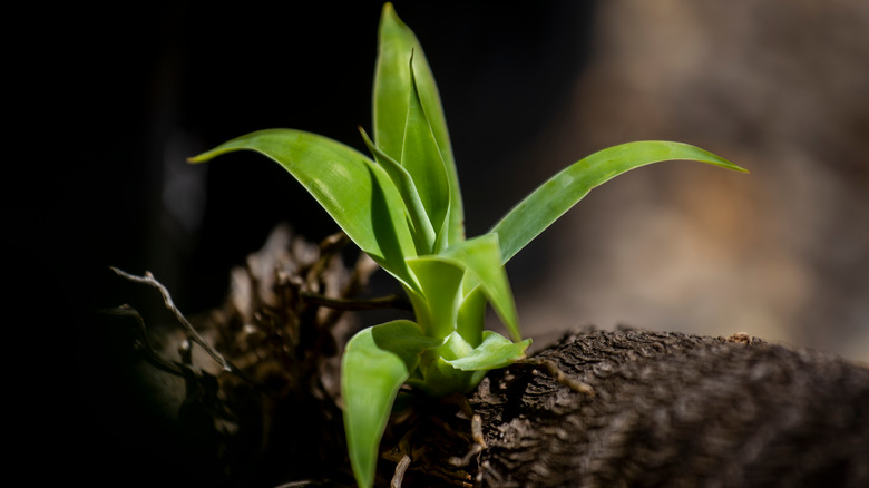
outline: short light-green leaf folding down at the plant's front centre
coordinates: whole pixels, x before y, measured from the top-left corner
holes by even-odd
[[[457,263],[470,272],[472,280],[476,280],[477,283],[466,280],[466,284],[470,283],[466,294],[470,293],[473,287],[481,286],[495,312],[507,326],[507,331],[515,341],[521,340],[516,303],[512,299],[512,291],[510,291],[510,283],[507,280],[507,272],[501,264],[501,251],[497,234],[489,233],[453,244],[437,257]]]

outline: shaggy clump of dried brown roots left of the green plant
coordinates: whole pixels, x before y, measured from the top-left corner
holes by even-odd
[[[114,312],[116,322],[135,329],[135,348],[154,367],[143,377],[153,382],[148,388],[165,389],[165,374],[175,377],[175,407],[167,408],[175,409],[179,429],[191,430],[184,449],[211,459],[191,470],[216,468],[211,475],[230,477],[223,485],[253,472],[273,479],[272,486],[315,486],[326,472],[352,484],[343,460],[339,358],[358,328],[345,312],[364,309],[357,295],[378,266],[364,254],[345,266],[342,248],[348,242],[335,234],[315,245],[280,226],[244,266],[232,270],[225,303],[189,320],[150,273],[114,270],[157,289],[179,324],[157,334],[131,308]],[[374,302],[397,304],[398,299]],[[335,456],[342,457],[338,463]],[[261,460],[275,457],[295,461],[264,474]]]

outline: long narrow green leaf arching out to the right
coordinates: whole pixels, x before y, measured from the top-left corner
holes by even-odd
[[[592,188],[631,169],[664,160],[695,160],[745,169],[699,147],[660,140],[627,143],[597,152],[563,169],[514,207],[491,232],[498,234],[506,263]]]

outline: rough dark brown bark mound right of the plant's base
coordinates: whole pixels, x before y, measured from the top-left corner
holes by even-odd
[[[481,486],[869,486],[869,370],[744,335],[592,331],[472,399]]]

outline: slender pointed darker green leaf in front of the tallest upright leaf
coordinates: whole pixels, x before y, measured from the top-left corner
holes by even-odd
[[[410,65],[413,65],[412,55]],[[432,253],[446,247],[449,242],[449,237],[445,235],[447,227],[445,224],[450,209],[450,184],[438,143],[434,140],[434,134],[419,98],[413,70],[409,69],[409,71],[411,90],[404,125],[404,145],[401,149],[401,166],[407,168],[413,178],[422,206],[437,233],[436,243],[440,245],[428,251]]]

